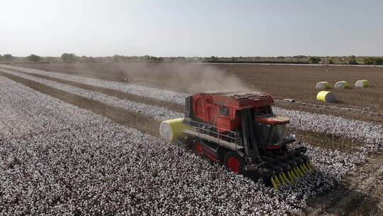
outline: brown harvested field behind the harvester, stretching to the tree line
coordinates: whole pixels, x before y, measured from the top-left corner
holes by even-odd
[[[118,82],[127,78],[135,85],[182,92],[233,89],[240,85],[240,89],[269,92],[276,99],[294,98],[309,103],[277,101],[279,107],[383,123],[383,68],[177,63],[41,63],[18,66]],[[353,85],[360,79],[370,80],[372,87],[333,89],[339,101],[330,107],[316,101],[316,82],[348,80]]]

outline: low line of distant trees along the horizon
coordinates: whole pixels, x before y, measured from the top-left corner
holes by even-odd
[[[31,54],[27,57],[15,57],[11,54],[0,55],[3,63],[292,63],[292,64],[338,64],[338,65],[383,65],[382,57],[373,56],[278,56],[278,57],[155,57],[152,55],[105,57],[77,56],[74,53],[62,53],[60,57],[41,57]]]

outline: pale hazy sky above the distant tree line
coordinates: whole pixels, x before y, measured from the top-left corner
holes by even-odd
[[[0,3],[0,54],[383,55],[383,1]]]

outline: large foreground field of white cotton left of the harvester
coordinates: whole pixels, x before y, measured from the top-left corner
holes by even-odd
[[[297,200],[182,148],[10,80],[0,83],[1,114],[10,117],[1,124],[5,214],[299,213]]]

